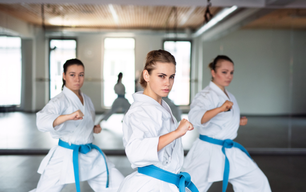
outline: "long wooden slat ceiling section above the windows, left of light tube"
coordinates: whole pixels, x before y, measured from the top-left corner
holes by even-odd
[[[167,6],[45,4],[44,17],[46,28],[159,30],[174,28],[176,19],[173,9]],[[177,7],[177,29],[199,28],[205,9],[205,6]],[[41,10],[41,4],[0,4],[0,11],[36,26],[42,25]],[[213,14],[219,10],[211,8]]]

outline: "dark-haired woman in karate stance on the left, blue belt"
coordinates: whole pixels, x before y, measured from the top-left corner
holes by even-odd
[[[93,133],[100,133],[94,125],[95,110],[90,98],[80,90],[84,83],[84,65],[78,59],[64,64],[63,91],[52,98],[37,113],[37,128],[49,131],[59,145],[50,149],[42,160],[37,188],[32,191],[61,191],[67,183],[86,181],[94,191],[117,191],[122,174],[95,145]]]

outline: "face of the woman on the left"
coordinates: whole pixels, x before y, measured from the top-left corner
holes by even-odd
[[[70,65],[67,67],[66,74],[63,73],[65,86],[72,91],[79,91],[84,83],[84,67],[82,65]]]

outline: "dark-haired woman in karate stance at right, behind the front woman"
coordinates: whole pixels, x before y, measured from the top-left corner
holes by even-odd
[[[190,173],[199,191],[207,191],[215,181],[227,182],[234,191],[271,191],[267,177],[248,152],[233,139],[239,125],[247,124],[233,94],[225,87],[234,74],[234,62],[218,56],[209,64],[212,81],[195,95],[188,117],[200,133],[187,154],[183,167]]]

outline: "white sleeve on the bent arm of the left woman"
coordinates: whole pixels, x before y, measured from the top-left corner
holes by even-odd
[[[59,131],[65,123],[53,127],[53,122],[61,115],[60,101],[50,100],[42,110],[36,113],[36,125],[39,131]]]

